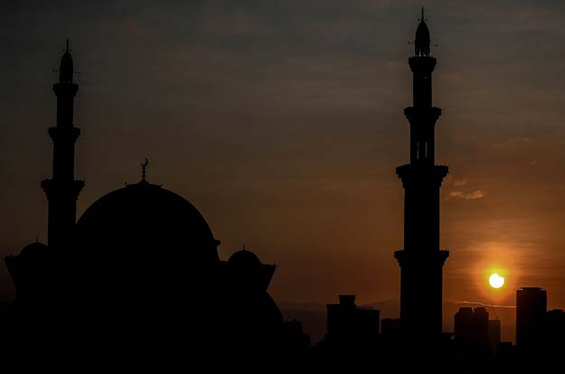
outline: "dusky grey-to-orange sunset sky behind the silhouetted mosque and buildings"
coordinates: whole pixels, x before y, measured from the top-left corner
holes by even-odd
[[[279,304],[396,300],[408,58],[426,7],[442,108],[444,298],[565,307],[562,1],[6,2],[0,14],[0,256],[46,240],[52,83],[75,77],[78,216],[140,179],[202,212],[219,253],[278,266]],[[157,250],[157,249],[155,249]],[[498,291],[487,278],[506,277]],[[13,297],[4,263],[0,298]],[[386,315],[385,315],[386,316]]]

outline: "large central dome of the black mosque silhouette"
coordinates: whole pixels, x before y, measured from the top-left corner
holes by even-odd
[[[91,248],[112,258],[165,257],[171,262],[184,259],[193,266],[219,260],[220,242],[200,211],[145,179],[95,201],[77,222],[76,239],[87,252]]]

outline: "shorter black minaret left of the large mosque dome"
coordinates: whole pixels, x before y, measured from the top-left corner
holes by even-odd
[[[57,126],[49,128],[53,142],[52,178],[42,181],[42,189],[49,203],[48,244],[61,247],[71,236],[76,223],[77,198],[84,187],[83,181],[74,179],[74,144],[80,129],[72,123],[74,97],[79,86],[72,82],[69,40],[61,58],[59,83],[53,84],[57,96]]]

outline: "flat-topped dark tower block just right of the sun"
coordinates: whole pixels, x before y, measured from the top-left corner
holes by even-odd
[[[540,343],[541,327],[547,313],[547,294],[540,287],[516,291],[516,345],[531,348]]]

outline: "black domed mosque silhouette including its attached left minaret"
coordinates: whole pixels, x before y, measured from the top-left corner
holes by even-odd
[[[300,326],[284,324],[268,294],[276,266],[261,263],[247,248],[221,260],[220,241],[200,211],[149,182],[148,161],[139,182],[102,196],[75,223],[84,182],[74,179],[80,130],[72,119],[78,91],[73,71],[67,44],[53,86],[52,178],[42,182],[48,243],[5,257],[16,291],[5,337],[14,349],[35,344],[51,347],[53,357],[96,360],[118,352],[127,360],[126,351],[186,359],[199,351],[274,354],[287,343],[304,346]],[[53,344],[54,337],[61,345]]]

